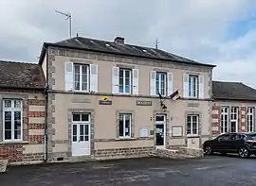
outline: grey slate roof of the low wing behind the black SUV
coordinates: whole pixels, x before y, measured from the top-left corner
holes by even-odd
[[[256,90],[241,82],[212,81],[213,99],[256,101]]]

